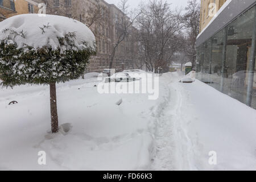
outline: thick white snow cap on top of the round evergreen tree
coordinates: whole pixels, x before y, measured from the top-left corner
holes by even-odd
[[[0,40],[11,35],[18,44],[18,48],[22,48],[24,44],[34,48],[46,45],[57,48],[60,46],[58,37],[64,38],[72,32],[76,34],[76,39],[73,40],[79,49],[86,48],[84,42],[94,48],[96,42],[93,32],[85,24],[64,16],[16,15],[0,22],[0,27]]]

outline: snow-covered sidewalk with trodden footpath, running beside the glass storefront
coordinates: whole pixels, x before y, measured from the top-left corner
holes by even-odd
[[[198,80],[178,80],[168,84],[153,169],[256,170],[256,111]]]

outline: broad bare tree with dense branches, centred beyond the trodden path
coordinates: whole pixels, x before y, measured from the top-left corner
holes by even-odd
[[[168,71],[175,51],[179,49],[179,34],[183,28],[180,11],[172,11],[162,0],[151,1],[138,18],[141,38],[141,59],[148,71],[161,67]]]

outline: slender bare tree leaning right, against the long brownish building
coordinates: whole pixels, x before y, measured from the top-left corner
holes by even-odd
[[[119,3],[120,16],[115,17],[117,20],[115,22],[117,38],[114,39],[113,48],[110,55],[109,68],[113,68],[113,62],[115,58],[115,53],[117,52],[118,46],[130,35],[132,31],[132,26],[141,12],[133,10],[130,13],[128,12],[127,0],[121,0]]]

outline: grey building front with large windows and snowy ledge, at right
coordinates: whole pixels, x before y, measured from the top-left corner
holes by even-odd
[[[196,42],[197,78],[256,109],[255,0],[226,1],[204,26]]]

